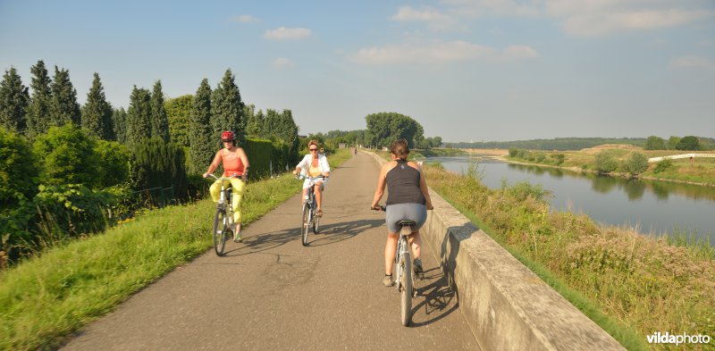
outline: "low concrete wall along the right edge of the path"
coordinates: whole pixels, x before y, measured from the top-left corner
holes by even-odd
[[[439,255],[482,349],[624,349],[442,196],[432,189],[430,196],[423,240]]]

